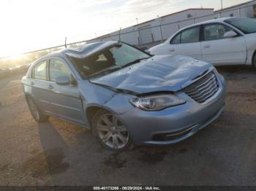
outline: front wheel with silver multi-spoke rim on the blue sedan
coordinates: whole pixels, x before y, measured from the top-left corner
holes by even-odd
[[[99,110],[93,117],[92,130],[105,149],[124,151],[133,148],[127,128],[111,112]]]

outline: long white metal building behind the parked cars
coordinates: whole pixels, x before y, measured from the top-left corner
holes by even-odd
[[[256,0],[238,4],[233,7],[214,11],[214,9],[186,9],[170,15],[157,17],[135,26],[121,29],[104,36],[99,36],[89,42],[105,40],[121,40],[129,44],[152,44],[161,42],[174,34],[180,28],[211,20],[217,17],[255,17]]]

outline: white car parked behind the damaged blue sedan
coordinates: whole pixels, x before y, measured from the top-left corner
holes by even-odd
[[[182,28],[163,44],[151,47],[153,55],[181,54],[221,65],[252,65],[256,69],[256,20],[226,17]]]

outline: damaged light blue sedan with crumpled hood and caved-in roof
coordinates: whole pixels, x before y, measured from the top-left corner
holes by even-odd
[[[91,128],[106,149],[175,144],[217,119],[225,79],[210,63],[97,42],[31,64],[23,91],[37,122]]]

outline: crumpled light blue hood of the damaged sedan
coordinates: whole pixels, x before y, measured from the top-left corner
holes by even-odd
[[[184,55],[155,55],[90,82],[134,93],[175,92],[211,67],[210,63]]]

